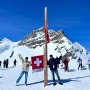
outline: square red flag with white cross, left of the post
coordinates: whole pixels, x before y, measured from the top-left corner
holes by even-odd
[[[33,56],[31,57],[32,60],[32,70],[33,71],[41,71],[44,67],[43,64],[43,55]]]

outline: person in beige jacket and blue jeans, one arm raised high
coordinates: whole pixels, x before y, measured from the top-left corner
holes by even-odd
[[[19,54],[19,58],[22,61],[22,71],[21,71],[20,76],[16,80],[16,86],[18,85],[20,79],[22,78],[24,74],[25,74],[25,85],[27,86],[28,71],[29,71],[29,66],[31,65],[31,62],[28,61],[28,57],[25,57],[25,60],[24,60],[21,54]]]

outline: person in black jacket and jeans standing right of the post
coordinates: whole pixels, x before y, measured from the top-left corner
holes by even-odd
[[[63,83],[60,80],[59,73],[58,73],[58,70],[57,70],[57,68],[58,68],[57,66],[59,64],[59,60],[56,60],[55,58],[53,58],[53,55],[50,55],[50,59],[47,62],[47,64],[49,65],[49,68],[50,68],[51,73],[52,73],[53,85],[57,84],[56,80],[55,80],[55,74],[56,74],[56,76],[58,78],[59,84],[63,85]]]

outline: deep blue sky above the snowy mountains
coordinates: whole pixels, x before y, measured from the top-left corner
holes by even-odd
[[[48,28],[63,29],[72,42],[90,51],[90,0],[0,0],[0,40],[23,39],[44,25],[48,8]]]

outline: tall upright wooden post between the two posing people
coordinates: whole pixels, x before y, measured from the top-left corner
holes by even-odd
[[[47,72],[47,7],[44,11],[44,32],[45,32],[45,47],[44,47],[44,87],[48,84]]]

